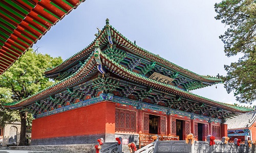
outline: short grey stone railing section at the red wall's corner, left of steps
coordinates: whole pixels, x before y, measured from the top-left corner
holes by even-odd
[[[119,137],[121,144],[117,142],[103,142],[101,144],[100,153],[121,153],[122,152],[122,138]]]

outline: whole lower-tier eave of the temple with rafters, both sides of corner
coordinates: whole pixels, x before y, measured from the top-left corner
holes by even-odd
[[[33,103],[33,101],[37,101],[41,98],[50,96],[52,94],[56,94],[57,92],[61,91],[62,89],[65,89],[67,87],[72,87],[72,85],[76,84],[82,79],[88,78],[89,74],[96,75],[98,73],[98,70],[95,69],[96,67],[96,61],[95,57],[93,56],[94,53],[91,54],[91,56],[84,62],[84,64],[70,77],[59,81],[55,83],[54,85],[48,87],[45,90],[39,91],[38,93],[25,98],[22,101],[16,101],[11,104],[6,104],[5,107],[9,108],[18,108],[18,107],[26,107],[27,105],[30,105]],[[101,53],[100,58],[102,59],[102,64],[105,65],[109,70],[111,70],[116,75],[119,75],[122,78],[131,80],[133,82],[140,82],[143,84],[146,84],[147,86],[154,87],[156,89],[164,90],[166,92],[173,93],[175,95],[182,96],[184,98],[189,98],[191,100],[196,100],[201,103],[210,105],[212,107],[216,108],[222,108],[230,112],[249,112],[253,111],[253,108],[245,108],[245,107],[238,107],[235,105],[228,105],[225,103],[220,103],[219,101],[211,100],[202,96],[199,96],[197,94],[193,94],[187,91],[180,90],[172,85],[166,85],[148,78],[143,77],[143,75],[140,75],[138,73],[135,73],[133,71],[130,71],[126,69],[125,67],[122,67],[120,64],[116,63],[112,59],[108,58],[106,55]],[[111,69],[113,68],[113,69]]]

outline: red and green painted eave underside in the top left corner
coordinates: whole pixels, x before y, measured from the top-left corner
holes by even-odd
[[[0,74],[85,0],[0,1]]]

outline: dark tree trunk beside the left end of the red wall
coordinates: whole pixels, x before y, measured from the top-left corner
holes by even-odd
[[[19,110],[20,117],[20,134],[19,134],[19,144],[18,145],[27,145],[26,138],[26,122],[27,122],[27,112],[22,112]]]

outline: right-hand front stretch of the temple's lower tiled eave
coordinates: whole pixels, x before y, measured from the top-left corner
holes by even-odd
[[[141,74],[130,71],[129,69],[123,67],[119,63],[116,63],[112,59],[109,59],[103,53],[101,53],[100,57],[101,57],[103,65],[108,67],[110,69],[110,71],[114,72],[115,74],[119,75],[122,78],[131,80],[131,81],[134,81],[134,82],[139,82],[139,83],[142,83],[142,84],[146,84],[146,85],[149,85],[149,86],[153,86],[155,88],[173,93],[175,95],[182,96],[184,98],[188,98],[188,99],[191,99],[191,100],[199,101],[200,103],[208,104],[212,107],[225,109],[229,112],[240,112],[240,113],[242,113],[242,112],[249,112],[249,111],[253,110],[252,108],[238,107],[238,106],[234,106],[234,105],[221,103],[219,101],[215,101],[215,100],[203,97],[203,96],[199,96],[199,95],[194,94],[194,93],[190,93],[188,91],[181,90],[181,89],[179,89],[177,87],[174,87],[172,85],[167,85],[167,84],[163,84],[163,83],[157,82],[157,81],[152,80],[152,79],[148,79],[148,78],[144,77]]]

